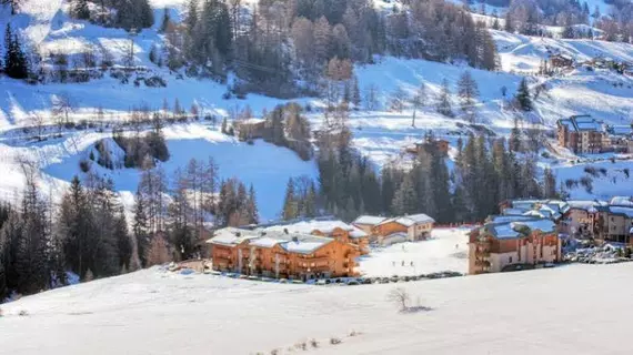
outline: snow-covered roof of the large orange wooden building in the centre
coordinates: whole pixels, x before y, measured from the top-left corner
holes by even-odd
[[[310,254],[320,247],[331,243],[334,239],[315,236],[302,233],[285,233],[283,231],[248,231],[227,227],[213,233],[213,237],[207,243],[217,245],[235,246],[243,242],[259,247],[281,246],[290,253]]]

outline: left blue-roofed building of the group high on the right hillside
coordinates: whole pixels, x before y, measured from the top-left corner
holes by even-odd
[[[602,124],[590,115],[573,115],[556,122],[559,144],[576,154],[601,153]]]

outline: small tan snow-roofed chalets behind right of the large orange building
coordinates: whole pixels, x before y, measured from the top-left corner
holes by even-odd
[[[431,235],[434,223],[435,220],[420,213],[391,219],[362,215],[352,224],[368,232],[373,242],[385,246],[425,240]]]

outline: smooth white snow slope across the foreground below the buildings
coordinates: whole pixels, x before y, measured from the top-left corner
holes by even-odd
[[[302,343],[309,354],[629,354],[632,272],[571,265],[309,286],[151,268],[2,305],[0,344],[21,355],[297,354]],[[386,301],[395,287],[428,308],[399,313]]]

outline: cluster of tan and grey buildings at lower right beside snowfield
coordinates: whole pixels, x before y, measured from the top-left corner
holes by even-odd
[[[547,265],[570,236],[633,244],[633,199],[516,200],[501,204],[469,237],[469,274]]]

